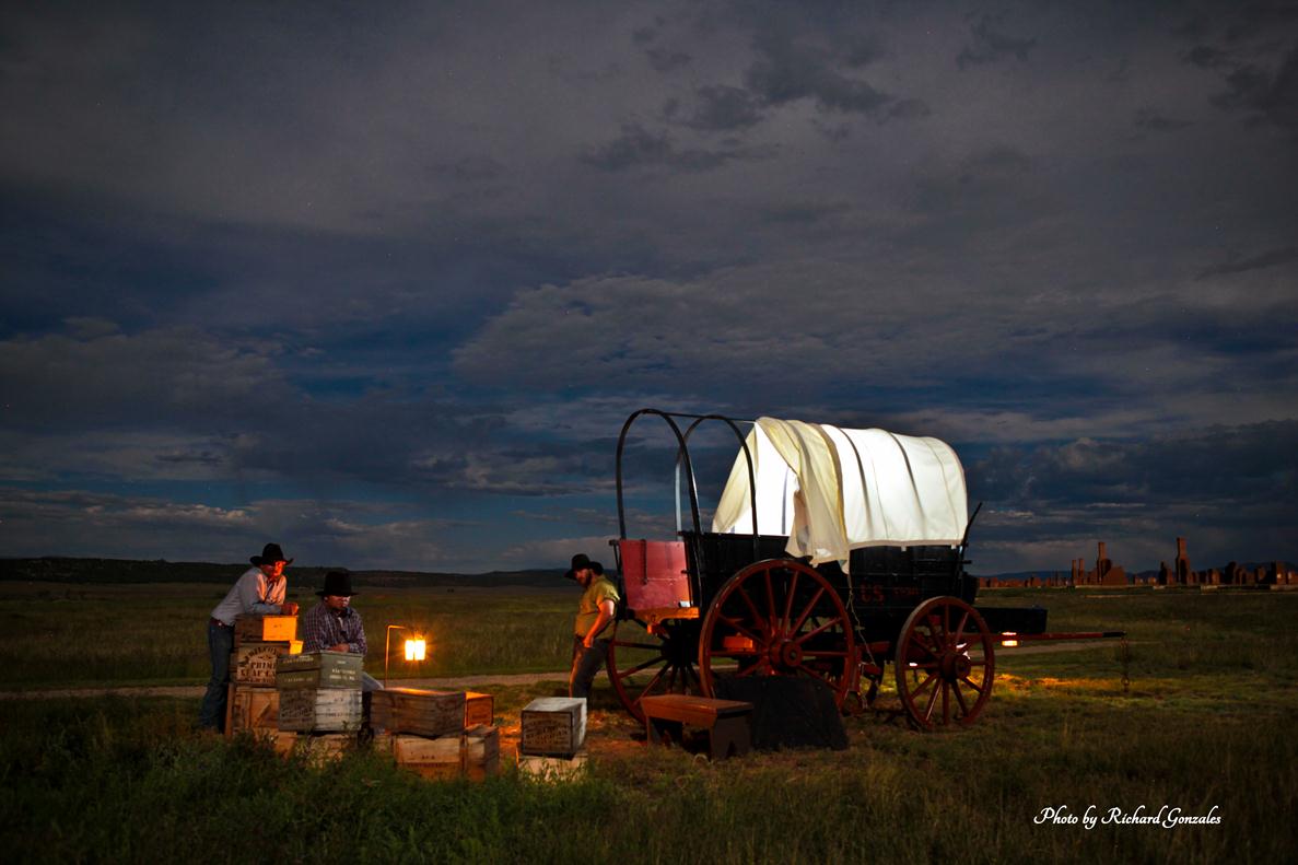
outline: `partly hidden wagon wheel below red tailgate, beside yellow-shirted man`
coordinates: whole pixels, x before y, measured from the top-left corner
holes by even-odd
[[[617,622],[609,640],[609,682],[627,712],[644,722],[641,697],[700,694],[697,646],[697,621],[663,622],[652,634],[636,620]]]

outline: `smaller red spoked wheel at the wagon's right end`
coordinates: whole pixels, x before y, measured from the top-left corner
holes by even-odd
[[[931,597],[911,612],[897,640],[897,694],[922,730],[968,726],[996,678],[992,633],[959,597]]]

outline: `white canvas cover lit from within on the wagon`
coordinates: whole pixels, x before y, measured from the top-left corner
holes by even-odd
[[[748,434],[757,530],[788,535],[813,565],[858,547],[959,544],[968,523],[964,469],[935,438],[761,417]],[[713,531],[752,534],[748,461],[740,449]]]

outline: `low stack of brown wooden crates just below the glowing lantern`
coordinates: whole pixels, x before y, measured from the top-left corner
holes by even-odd
[[[370,695],[375,749],[424,778],[482,779],[500,766],[489,694],[387,688]]]

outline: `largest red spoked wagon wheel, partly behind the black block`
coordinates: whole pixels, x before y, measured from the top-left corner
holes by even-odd
[[[749,565],[727,581],[704,618],[698,673],[704,694],[718,677],[810,675],[839,707],[853,682],[855,640],[829,582],[788,558]]]

